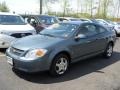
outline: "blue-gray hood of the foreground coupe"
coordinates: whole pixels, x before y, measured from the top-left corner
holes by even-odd
[[[49,48],[62,41],[63,38],[56,38],[44,35],[32,35],[19,39],[11,46],[20,50],[29,50],[35,48]]]

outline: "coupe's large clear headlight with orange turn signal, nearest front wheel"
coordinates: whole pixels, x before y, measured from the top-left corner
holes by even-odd
[[[47,53],[46,49],[34,49],[34,50],[28,51],[24,58],[26,60],[34,60],[39,57],[43,57],[46,53]]]

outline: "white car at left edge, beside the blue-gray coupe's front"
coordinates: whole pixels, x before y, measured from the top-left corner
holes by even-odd
[[[8,48],[13,41],[34,34],[36,30],[21,16],[0,12],[0,48]]]

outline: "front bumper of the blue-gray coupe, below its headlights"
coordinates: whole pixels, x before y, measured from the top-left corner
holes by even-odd
[[[17,70],[24,71],[27,73],[34,73],[39,71],[49,70],[48,58],[39,58],[36,60],[23,60],[18,56],[14,56],[8,51],[6,52],[6,56],[12,58],[13,67]]]

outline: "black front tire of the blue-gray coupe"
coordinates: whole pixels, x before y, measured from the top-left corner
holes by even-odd
[[[64,58],[64,63],[67,63],[67,66],[61,65],[61,67],[64,67],[64,70],[61,70],[61,72],[58,72],[59,70],[57,69],[59,69],[60,66],[57,66],[57,65],[59,65],[61,58]],[[65,54],[59,54],[54,58],[49,72],[52,76],[61,76],[66,73],[66,71],[68,70],[68,67],[69,67],[69,57]]]

